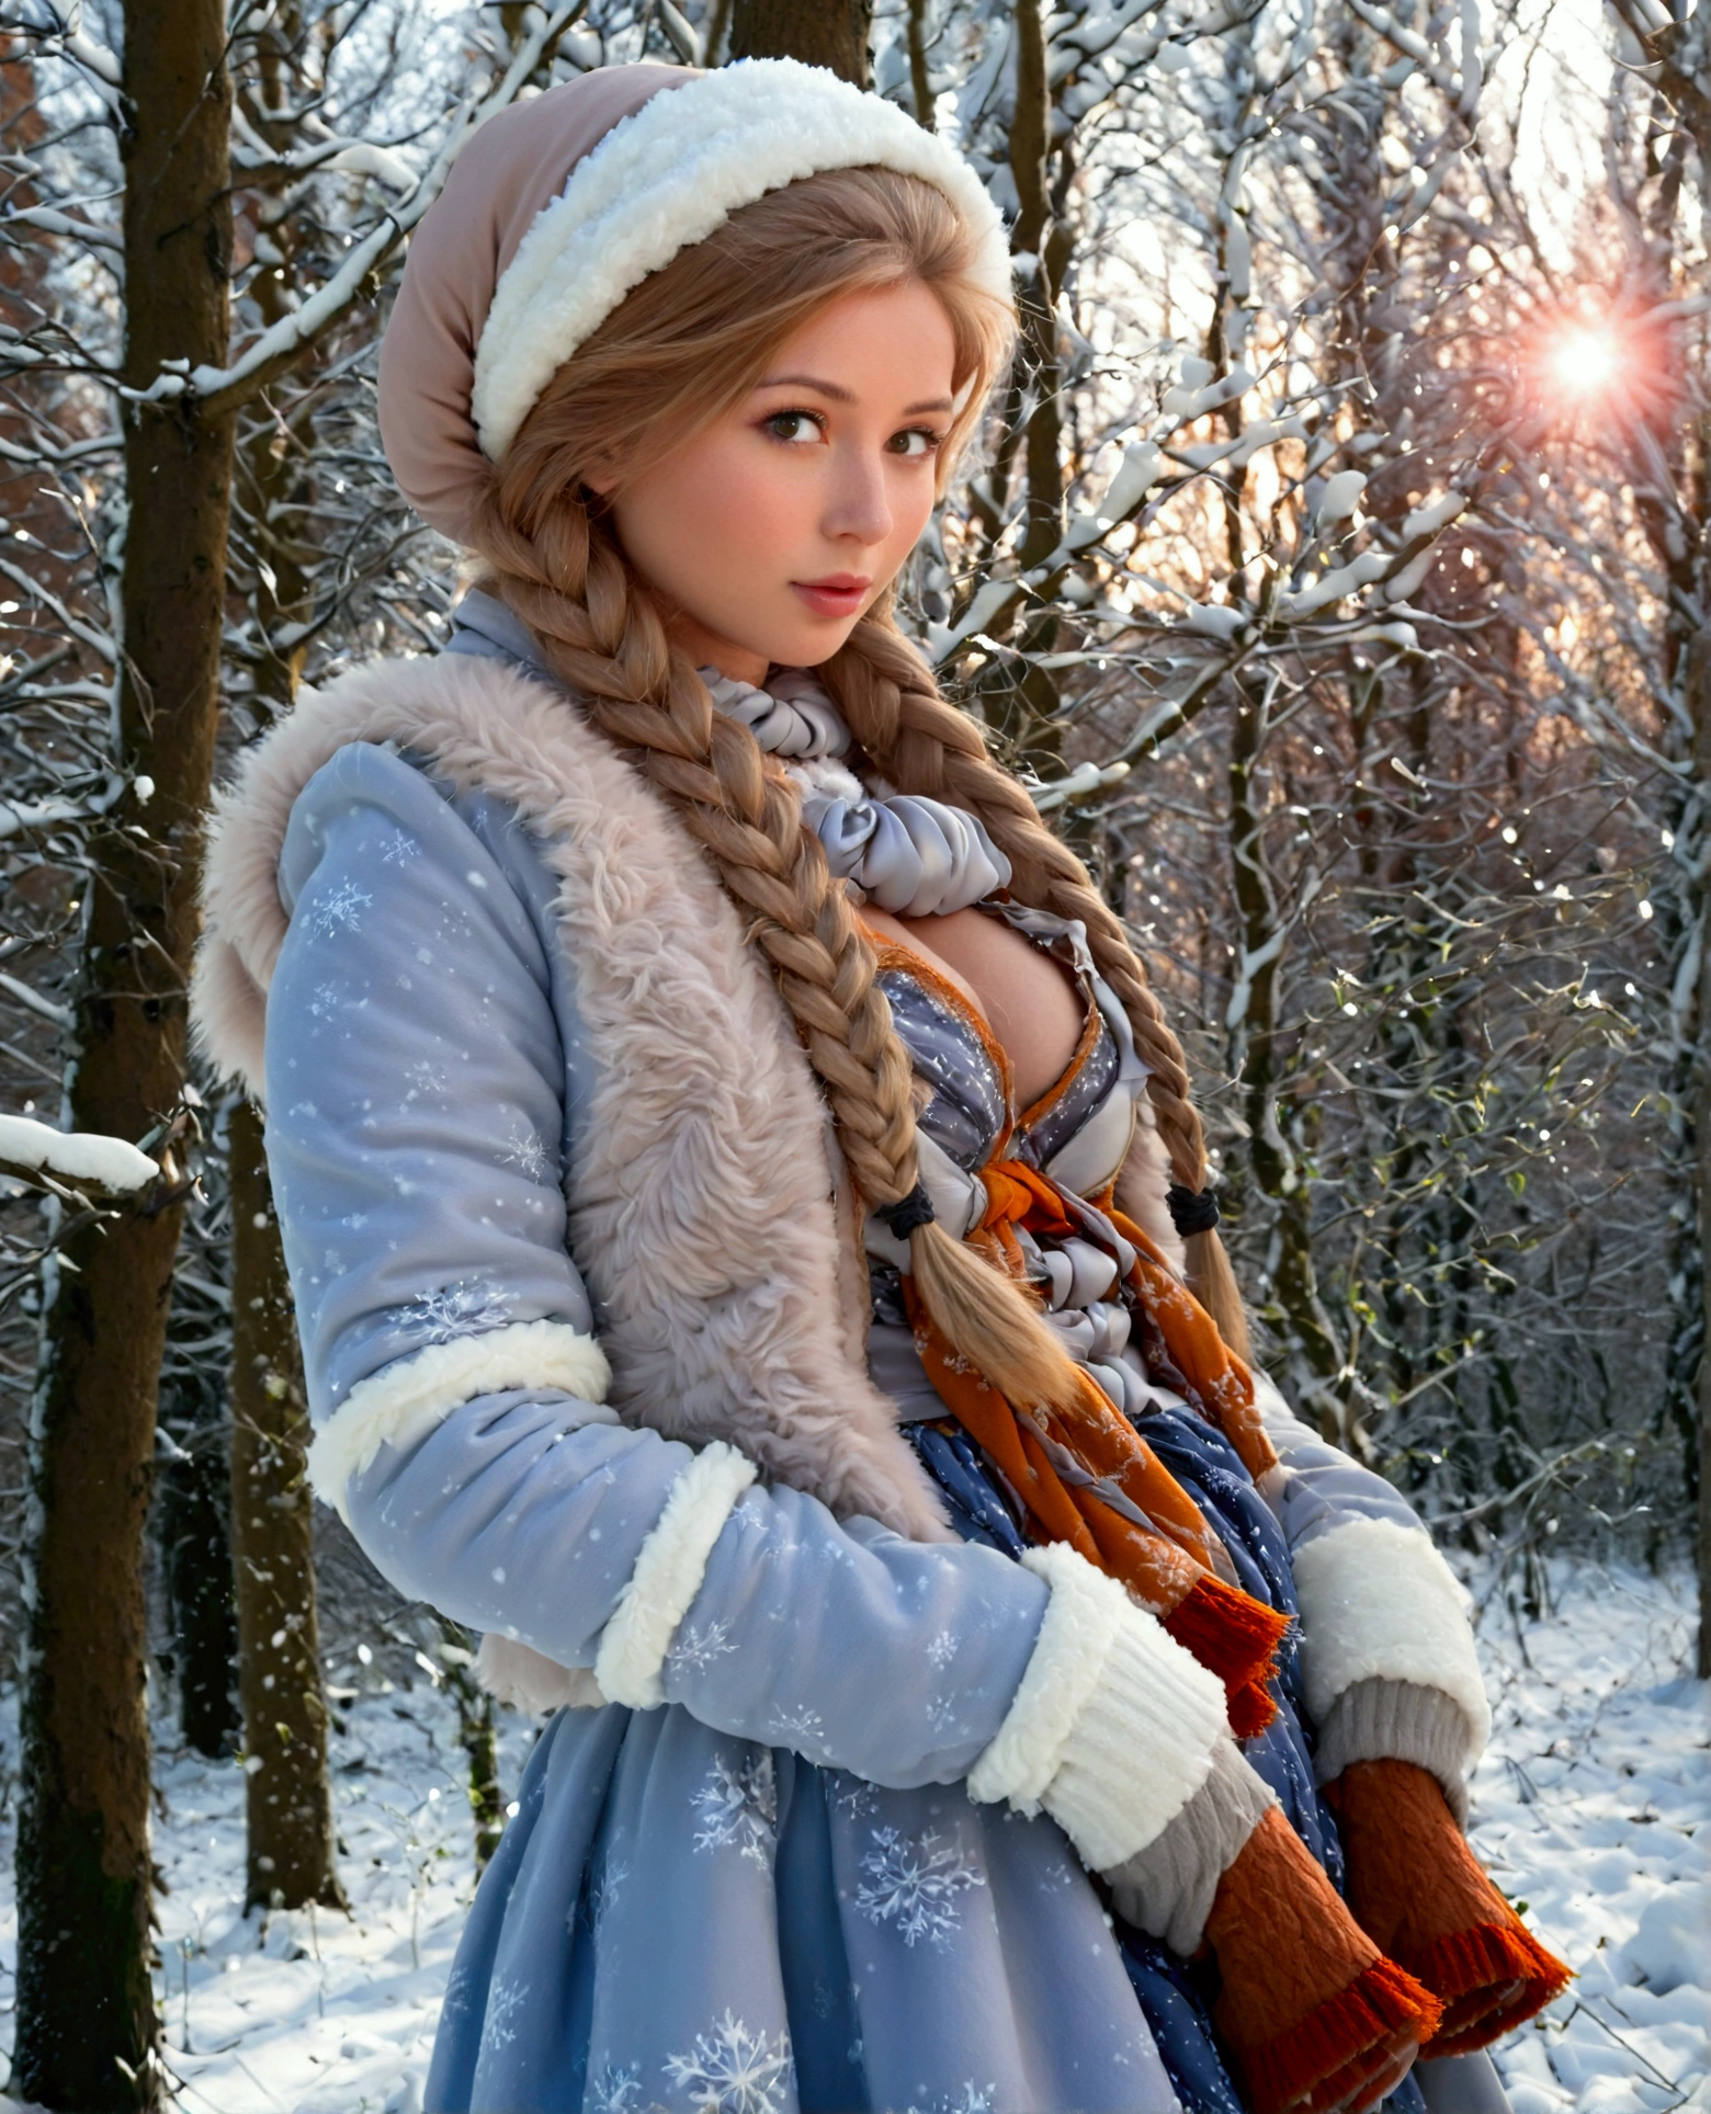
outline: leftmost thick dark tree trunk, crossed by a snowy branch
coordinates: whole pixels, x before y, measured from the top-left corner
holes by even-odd
[[[125,0],[125,381],[226,357],[220,0]],[[220,676],[233,423],[125,406],[129,528],[114,765],[152,778],[91,846],[68,1114],[140,1137],[180,1099],[197,829]],[[148,833],[142,827],[148,824]],[[131,827],[137,833],[131,833]],[[144,1526],[180,1211],[78,1235],[47,1287],[32,1418],[11,2091],[161,2103],[150,1991]]]

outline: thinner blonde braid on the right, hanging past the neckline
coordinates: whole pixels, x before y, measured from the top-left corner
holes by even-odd
[[[1011,863],[1015,896],[1034,909],[1085,924],[1093,962],[1121,998],[1136,1049],[1151,1065],[1146,1091],[1172,1173],[1189,1190],[1206,1188],[1206,1127],[1189,1095],[1182,1044],[1087,867],[1041,822],[1022,784],[992,761],[967,712],[945,704],[931,670],[888,611],[863,617],[823,672],[850,731],[899,791],[924,793],[977,814]],[[1193,1290],[1225,1342],[1246,1357],[1248,1323],[1222,1241],[1216,1232],[1197,1232],[1186,1249]]]

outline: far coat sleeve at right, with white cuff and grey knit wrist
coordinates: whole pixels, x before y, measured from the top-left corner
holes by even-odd
[[[1468,1814],[1468,1776],[1491,1736],[1468,1594],[1413,1505],[1322,1440],[1256,1372],[1280,1467],[1263,1488],[1290,1543],[1316,1767],[1411,1761]]]

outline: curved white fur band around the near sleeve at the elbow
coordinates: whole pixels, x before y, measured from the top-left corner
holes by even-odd
[[[381,1446],[410,1446],[465,1402],[512,1387],[558,1387],[588,1406],[584,1423],[618,1423],[615,1410],[605,1408],[611,1366],[594,1338],[569,1321],[516,1321],[431,1342],[357,1380],[315,1433],[309,1486],[349,1526],[345,1488]]]

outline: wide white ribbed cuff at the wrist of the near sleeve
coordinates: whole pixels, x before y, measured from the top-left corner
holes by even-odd
[[[1144,1850],[1206,1782],[1229,1731],[1225,1687],[1064,1543],[1028,1550],[1051,1586],[1041,1634],[971,1799],[1041,1805],[1093,1871]]]

